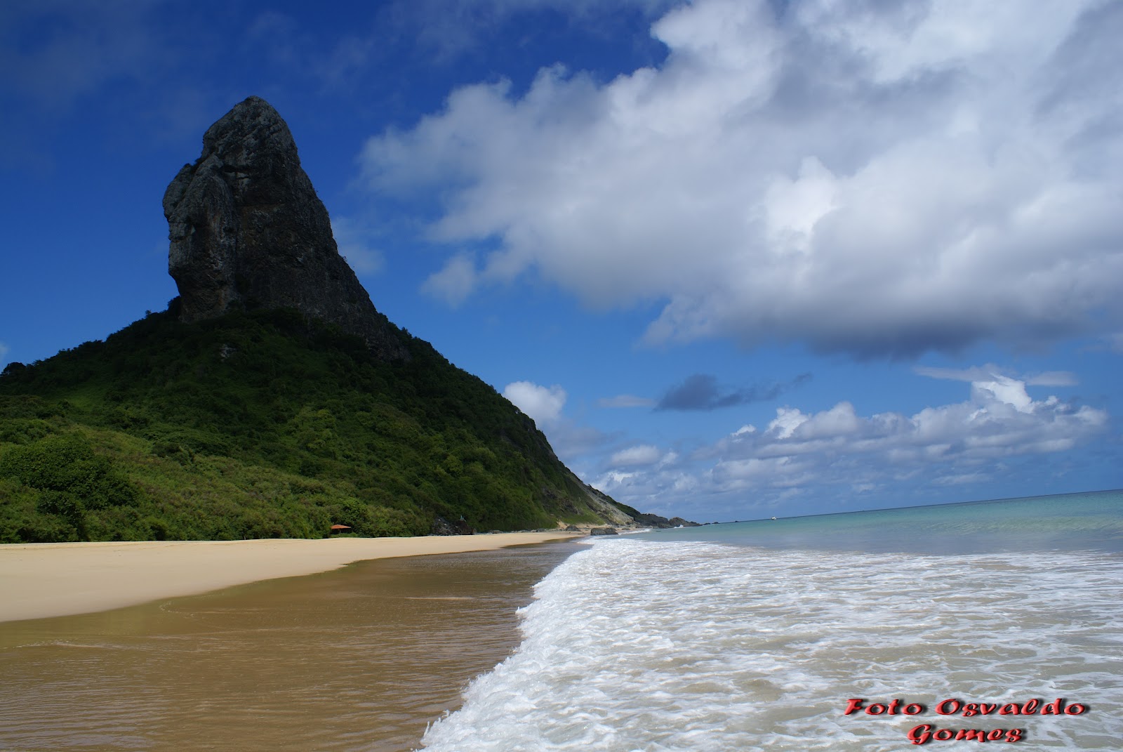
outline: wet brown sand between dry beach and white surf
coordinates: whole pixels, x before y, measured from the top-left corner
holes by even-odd
[[[362,561],[0,624],[0,749],[412,750],[518,645],[515,609],[579,549]]]

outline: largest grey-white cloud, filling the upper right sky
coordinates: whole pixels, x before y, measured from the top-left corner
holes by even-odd
[[[495,242],[458,290],[858,355],[1120,329],[1123,4],[697,0],[651,34],[658,66],[465,87],[365,145],[376,190],[444,197],[432,239]]]

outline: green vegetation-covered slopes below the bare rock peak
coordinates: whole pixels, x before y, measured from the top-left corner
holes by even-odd
[[[4,369],[0,542],[419,535],[629,509],[404,330],[411,359],[387,363],[291,309],[182,324],[175,306]]]

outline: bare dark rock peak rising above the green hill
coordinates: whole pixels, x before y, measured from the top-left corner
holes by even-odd
[[[164,216],[183,321],[296,308],[358,335],[383,360],[409,357],[339,255],[289,126],[264,99],[246,99],[207,130],[202,155],[167,187]]]

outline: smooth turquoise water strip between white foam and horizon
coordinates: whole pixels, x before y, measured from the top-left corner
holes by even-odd
[[[907,553],[1123,552],[1123,490],[655,531],[649,541]]]

